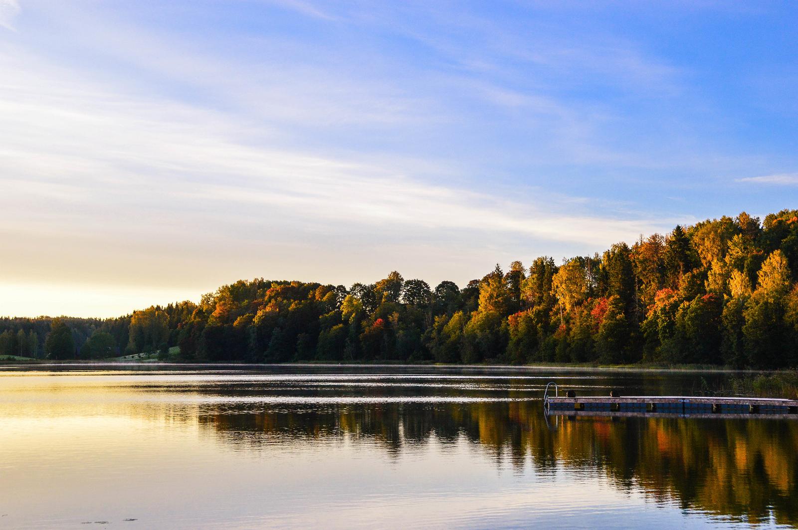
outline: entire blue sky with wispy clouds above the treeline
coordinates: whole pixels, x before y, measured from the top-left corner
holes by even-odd
[[[0,315],[462,287],[798,199],[795,2],[0,0]]]

